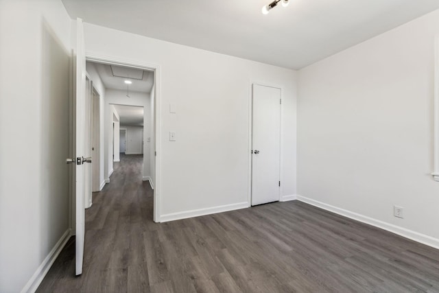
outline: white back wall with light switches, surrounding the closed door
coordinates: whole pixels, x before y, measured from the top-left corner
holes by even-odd
[[[283,86],[281,181],[283,196],[296,194],[296,71],[88,23],[85,37],[89,54],[161,67],[162,216],[248,202],[250,81]]]

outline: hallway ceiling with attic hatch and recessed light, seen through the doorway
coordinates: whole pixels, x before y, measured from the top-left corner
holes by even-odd
[[[87,64],[87,66],[93,64],[106,89],[127,91],[125,80],[130,80],[132,82],[129,85],[130,92],[150,93],[154,85],[154,72],[152,71],[93,62],[87,62]]]

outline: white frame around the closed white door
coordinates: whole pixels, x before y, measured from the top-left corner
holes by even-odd
[[[283,86],[270,84],[267,82],[257,82],[254,80],[250,80],[249,82],[249,90],[248,90],[248,207],[252,207],[252,142],[253,142],[253,85],[258,86],[268,86],[275,89],[281,90],[281,110],[279,113],[279,180],[281,181],[281,186],[279,187],[279,201],[282,199],[283,194]]]

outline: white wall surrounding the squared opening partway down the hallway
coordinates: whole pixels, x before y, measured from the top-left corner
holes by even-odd
[[[127,105],[127,106],[143,106],[143,121],[150,121],[150,111],[147,109],[150,106],[150,94],[147,93],[138,93],[138,92],[130,92],[130,97],[126,97],[126,91],[119,91],[114,89],[106,89],[105,96],[105,141],[107,141],[106,145],[109,145],[110,148],[106,148],[105,156],[107,158],[106,165],[104,166],[105,174],[109,176],[112,173],[112,114],[117,113],[113,104],[117,105]],[[149,128],[145,127],[143,136],[149,137],[150,131]],[[145,163],[143,164],[143,177],[150,176],[150,154],[149,147],[150,143],[145,142],[143,145],[143,160]],[[107,182],[108,182],[107,180]]]

